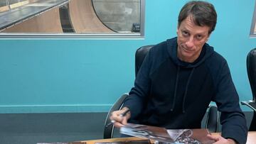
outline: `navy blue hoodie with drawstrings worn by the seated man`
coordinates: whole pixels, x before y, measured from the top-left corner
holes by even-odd
[[[146,55],[124,102],[131,123],[164,128],[201,128],[210,101],[221,112],[224,138],[245,143],[247,126],[226,60],[207,43],[193,63],[177,57],[177,38]]]

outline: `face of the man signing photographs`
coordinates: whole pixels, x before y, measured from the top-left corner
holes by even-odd
[[[209,30],[208,26],[196,26],[191,16],[182,21],[177,28],[178,58],[184,62],[194,62],[210,36]]]

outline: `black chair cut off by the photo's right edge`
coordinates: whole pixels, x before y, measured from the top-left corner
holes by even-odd
[[[248,53],[246,64],[247,75],[252,89],[252,100],[242,101],[241,104],[249,106],[254,111],[249,131],[256,131],[256,48],[250,50]]]

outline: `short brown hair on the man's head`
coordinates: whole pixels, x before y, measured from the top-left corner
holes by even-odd
[[[178,26],[188,16],[191,16],[193,22],[198,26],[209,26],[209,33],[214,31],[217,23],[217,13],[213,4],[206,1],[189,1],[178,14]]]

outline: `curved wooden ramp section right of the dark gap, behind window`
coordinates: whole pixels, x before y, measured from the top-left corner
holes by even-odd
[[[69,11],[75,33],[115,33],[97,17],[91,0],[71,0]]]

